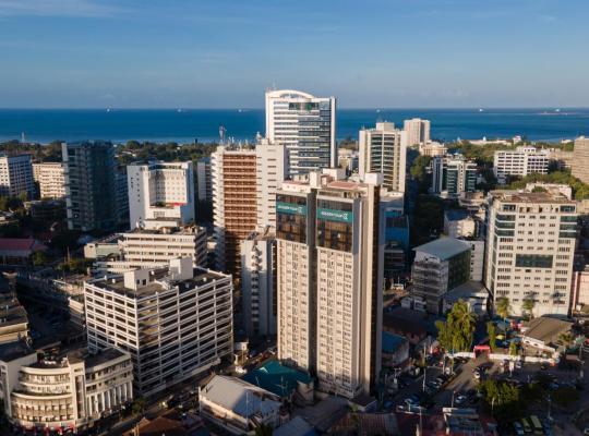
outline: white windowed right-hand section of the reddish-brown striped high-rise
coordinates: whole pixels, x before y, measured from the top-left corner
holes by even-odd
[[[255,145],[257,229],[276,227],[276,190],[288,175],[288,155],[281,144],[260,140]]]

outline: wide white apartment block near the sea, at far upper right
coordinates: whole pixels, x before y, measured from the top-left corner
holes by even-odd
[[[507,175],[525,177],[531,173],[546,174],[550,164],[548,150],[534,147],[517,147],[515,150],[496,150],[493,172],[500,181]]]

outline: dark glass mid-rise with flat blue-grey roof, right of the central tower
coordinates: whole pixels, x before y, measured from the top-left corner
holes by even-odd
[[[446,293],[470,279],[471,246],[454,238],[440,238],[413,249],[412,293],[425,308],[440,314]]]

